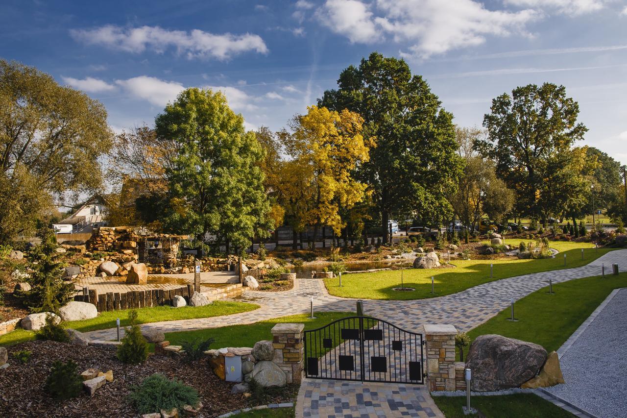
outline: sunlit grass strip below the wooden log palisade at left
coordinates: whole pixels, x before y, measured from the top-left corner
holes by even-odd
[[[138,322],[147,324],[161,321],[175,321],[177,319],[212,318],[213,316],[231,315],[241,312],[248,312],[258,309],[259,305],[253,303],[215,301],[206,306],[184,306],[183,308],[172,308],[171,306],[155,306],[154,308],[137,309]],[[65,328],[87,332],[95,330],[106,330],[115,328],[115,320],[120,318],[120,326],[129,324],[129,310],[108,311],[98,314],[96,318],[84,319],[83,321],[70,321],[63,323]],[[0,346],[14,345],[23,341],[33,340],[33,331],[26,331],[18,328],[5,335],[0,335]]]

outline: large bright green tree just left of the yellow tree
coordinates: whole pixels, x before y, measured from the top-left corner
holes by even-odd
[[[155,118],[157,135],[176,142],[167,168],[170,210],[166,228],[214,249],[245,249],[268,235],[270,204],[259,161],[263,149],[244,118],[220,92],[187,88]]]

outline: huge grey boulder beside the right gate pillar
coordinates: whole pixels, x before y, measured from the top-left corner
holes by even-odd
[[[475,392],[520,387],[537,375],[547,358],[542,346],[501,335],[481,335],[468,350],[466,367],[472,370]]]

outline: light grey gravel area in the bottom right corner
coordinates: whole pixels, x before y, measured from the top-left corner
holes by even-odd
[[[626,306],[622,289],[562,355],[566,383],[548,392],[599,417],[627,416]]]

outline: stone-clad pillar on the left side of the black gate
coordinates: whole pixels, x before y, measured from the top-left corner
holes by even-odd
[[[287,383],[300,385],[303,380],[303,330],[305,324],[276,324],[273,326],[272,345],[275,349],[275,357],[272,360],[285,372]]]

